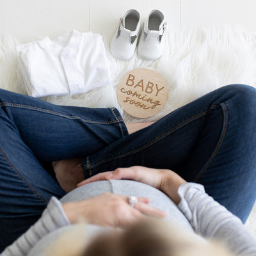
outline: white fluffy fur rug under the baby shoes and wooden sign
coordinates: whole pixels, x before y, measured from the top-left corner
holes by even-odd
[[[147,122],[158,120],[174,109],[227,84],[242,83],[256,87],[256,34],[242,29],[169,28],[164,54],[156,61],[141,60],[137,54],[129,61],[115,60],[109,53],[111,36],[112,33],[103,35],[113,86],[71,97],[46,97],[44,100],[54,104],[91,108],[115,106],[122,112],[115,93],[118,81],[133,68],[152,68],[168,84],[168,100],[164,109],[156,116],[142,120],[123,113],[126,122]],[[17,66],[15,45],[19,45],[19,42],[12,36],[5,35],[1,38],[0,88],[26,94]],[[256,206],[253,207],[246,226],[256,235]]]

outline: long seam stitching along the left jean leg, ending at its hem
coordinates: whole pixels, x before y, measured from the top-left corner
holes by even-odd
[[[31,110],[34,110],[34,111],[42,111],[42,112],[45,112],[45,113],[50,113],[52,115],[58,115],[58,116],[62,116],[62,117],[65,117],[65,118],[68,118],[68,119],[71,119],[71,120],[75,120],[75,119],[80,119],[80,120],[83,120],[84,122],[86,123],[92,123],[92,124],[115,124],[116,122],[120,122],[120,120],[110,120],[110,121],[93,121],[93,120],[88,120],[88,119],[84,119],[84,118],[81,118],[80,116],[68,116],[68,115],[65,115],[63,113],[60,113],[60,112],[56,112],[56,111],[52,111],[52,110],[49,110],[49,109],[44,109],[44,108],[38,108],[38,107],[34,107],[34,106],[28,106],[28,105],[24,105],[24,104],[17,104],[17,103],[9,103],[9,102],[1,102],[0,103],[0,106],[9,106],[9,107],[17,107],[17,108],[26,108],[26,109],[31,109]]]

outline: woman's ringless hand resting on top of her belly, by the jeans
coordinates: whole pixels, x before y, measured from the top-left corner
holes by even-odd
[[[77,184],[83,186],[90,182],[109,179],[129,179],[136,180],[157,188],[168,195],[175,204],[179,204],[180,198],[178,189],[180,185],[186,183],[177,173],[166,169],[152,169],[143,166],[132,166],[129,168],[117,168],[113,172],[102,172]]]

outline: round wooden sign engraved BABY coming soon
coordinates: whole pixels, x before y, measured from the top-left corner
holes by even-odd
[[[127,72],[117,88],[117,98],[124,110],[132,116],[154,116],[167,100],[167,84],[156,71],[135,68]]]

